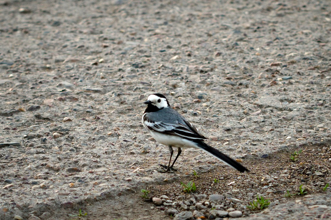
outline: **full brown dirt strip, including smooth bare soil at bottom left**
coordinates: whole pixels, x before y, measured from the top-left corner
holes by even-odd
[[[268,214],[280,204],[302,200],[306,197],[310,198],[318,193],[323,195],[330,192],[330,187],[323,191],[326,183],[331,182],[330,146],[308,146],[302,150],[294,157],[294,160],[290,157],[295,151],[299,152],[300,149],[274,153],[267,158],[244,160],[242,164],[250,169],[249,173],[238,173],[228,166],[220,166],[207,173],[197,173],[198,177],[190,172],[187,173],[186,177],[181,177],[171,183],[147,186],[150,196],[162,198],[166,195],[168,198],[164,200],[171,200],[171,203],[176,203],[175,205],[156,206],[152,202],[144,202],[144,199],[140,197],[142,193],[138,192],[91,202],[81,205],[79,208],[88,213],[88,216],[83,219],[150,219],[151,216],[153,219],[172,219],[167,213],[170,208],[179,212],[198,210],[203,213],[200,219],[203,217],[212,219],[209,216],[213,209],[228,210],[233,208],[242,211],[243,217],[260,211]],[[187,183],[191,180],[194,181],[197,190],[194,193],[184,193],[180,182]],[[300,185],[303,189],[302,195],[299,191]],[[210,202],[209,195],[213,194],[223,195],[224,200],[206,205],[205,202]],[[202,198],[201,195],[205,195],[205,197]],[[247,208],[247,205],[254,201],[257,195],[269,200],[270,204],[267,209],[252,211]],[[191,198],[195,202],[192,202]],[[187,205],[187,209],[183,209],[180,202],[186,201],[190,201],[190,205]],[[167,201],[166,203],[170,202]],[[206,208],[199,208],[201,206],[197,205],[198,203]],[[60,216],[69,218],[68,214],[73,212],[78,212],[78,207],[67,209]],[[315,216],[318,215],[320,215],[319,212],[315,213]]]

